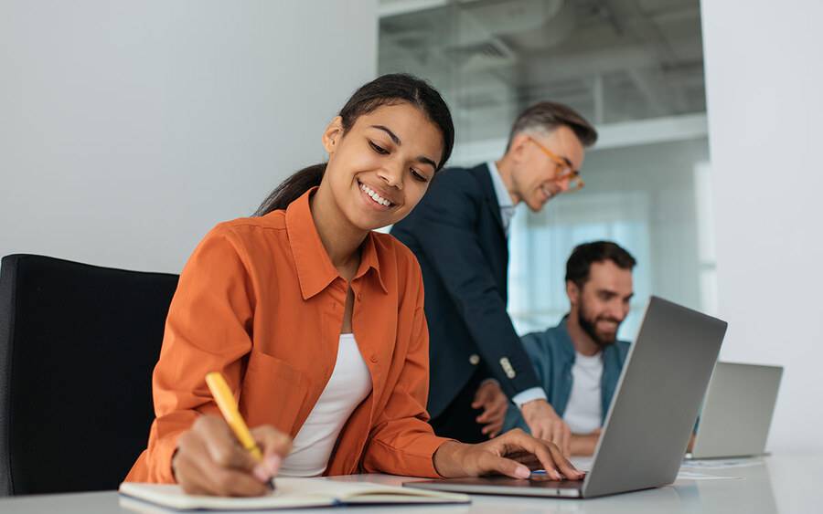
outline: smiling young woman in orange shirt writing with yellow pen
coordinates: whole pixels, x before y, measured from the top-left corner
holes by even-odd
[[[258,216],[203,239],[166,320],[148,448],[126,480],[246,496],[278,474],[528,477],[528,465],[582,477],[556,446],[523,432],[464,445],[426,423],[420,268],[372,229],[409,214],[453,142],[436,90],[380,77],[326,127],[326,164],[287,179]],[[204,380],[212,371],[256,427],[261,463],[219,416]]]

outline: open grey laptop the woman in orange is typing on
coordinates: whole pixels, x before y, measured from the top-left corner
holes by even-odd
[[[670,484],[717,360],[726,322],[665,299],[649,300],[583,480],[508,477],[406,482],[477,494],[593,498]]]

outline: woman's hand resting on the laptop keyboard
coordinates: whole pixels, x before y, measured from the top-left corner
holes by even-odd
[[[449,441],[437,448],[433,460],[434,468],[446,478],[493,474],[528,478],[533,469],[545,469],[555,480],[584,477],[557,446],[518,428],[477,445]]]

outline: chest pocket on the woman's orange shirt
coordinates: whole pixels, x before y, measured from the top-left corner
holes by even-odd
[[[240,394],[240,410],[250,427],[273,425],[291,435],[307,387],[304,373],[288,362],[261,351],[251,351]]]

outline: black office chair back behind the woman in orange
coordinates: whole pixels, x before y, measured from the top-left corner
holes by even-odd
[[[176,286],[176,275],[3,257],[0,497],[117,488],[148,440]]]

